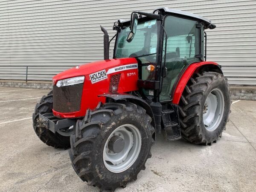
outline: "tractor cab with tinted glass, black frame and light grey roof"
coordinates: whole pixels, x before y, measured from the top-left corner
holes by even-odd
[[[214,29],[215,25],[204,17],[175,9],[159,8],[153,14],[133,12],[131,22],[114,23],[113,58],[136,58],[138,86],[143,94],[169,102],[182,71],[206,59],[207,28]]]

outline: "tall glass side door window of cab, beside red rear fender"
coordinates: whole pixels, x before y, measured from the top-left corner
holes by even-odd
[[[198,62],[200,54],[200,29],[198,21],[168,16],[165,19],[167,32],[166,74],[163,79],[160,101],[170,100],[172,87],[186,65]],[[165,42],[165,39],[164,39]],[[165,50],[163,49],[163,57]],[[163,59],[162,59],[163,60]]]

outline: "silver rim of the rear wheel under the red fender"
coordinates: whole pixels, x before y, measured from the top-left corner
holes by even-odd
[[[224,95],[220,89],[209,93],[203,107],[204,127],[207,131],[214,131],[221,123],[224,113]]]

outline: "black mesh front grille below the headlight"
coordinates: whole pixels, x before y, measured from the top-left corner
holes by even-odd
[[[53,109],[60,113],[80,110],[83,83],[69,86],[53,86]]]

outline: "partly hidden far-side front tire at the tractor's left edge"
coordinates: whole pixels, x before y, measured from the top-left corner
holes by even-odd
[[[54,148],[69,148],[70,147],[70,137],[62,136],[58,133],[52,133],[47,128],[38,128],[37,119],[40,114],[52,113],[52,91],[50,91],[47,96],[43,96],[39,103],[35,105],[35,113],[33,113],[33,128],[39,139],[45,144],[52,146]]]

